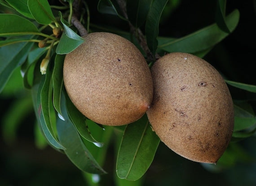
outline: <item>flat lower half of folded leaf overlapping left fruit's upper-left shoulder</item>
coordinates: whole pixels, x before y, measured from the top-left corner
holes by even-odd
[[[74,51],[83,42],[84,42],[84,40],[71,39],[66,35],[66,33],[63,33],[62,37],[60,38],[59,44],[56,48],[56,53],[57,54],[68,54],[71,51]]]

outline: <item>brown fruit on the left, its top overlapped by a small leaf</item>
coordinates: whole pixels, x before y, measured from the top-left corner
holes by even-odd
[[[132,123],[149,109],[153,98],[150,69],[127,39],[92,33],[67,54],[63,67],[66,91],[77,109],[103,125]]]

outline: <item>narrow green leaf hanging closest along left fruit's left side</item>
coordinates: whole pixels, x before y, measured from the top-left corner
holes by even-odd
[[[62,115],[61,94],[63,89],[63,63],[65,55],[56,55],[53,69],[53,106]]]

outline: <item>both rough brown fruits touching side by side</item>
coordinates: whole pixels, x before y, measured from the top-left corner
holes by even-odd
[[[66,91],[82,114],[114,126],[147,113],[156,134],[174,152],[216,163],[231,139],[234,111],[215,68],[194,55],[171,53],[154,63],[151,74],[128,40],[110,33],[84,39],[66,55],[63,69]]]

